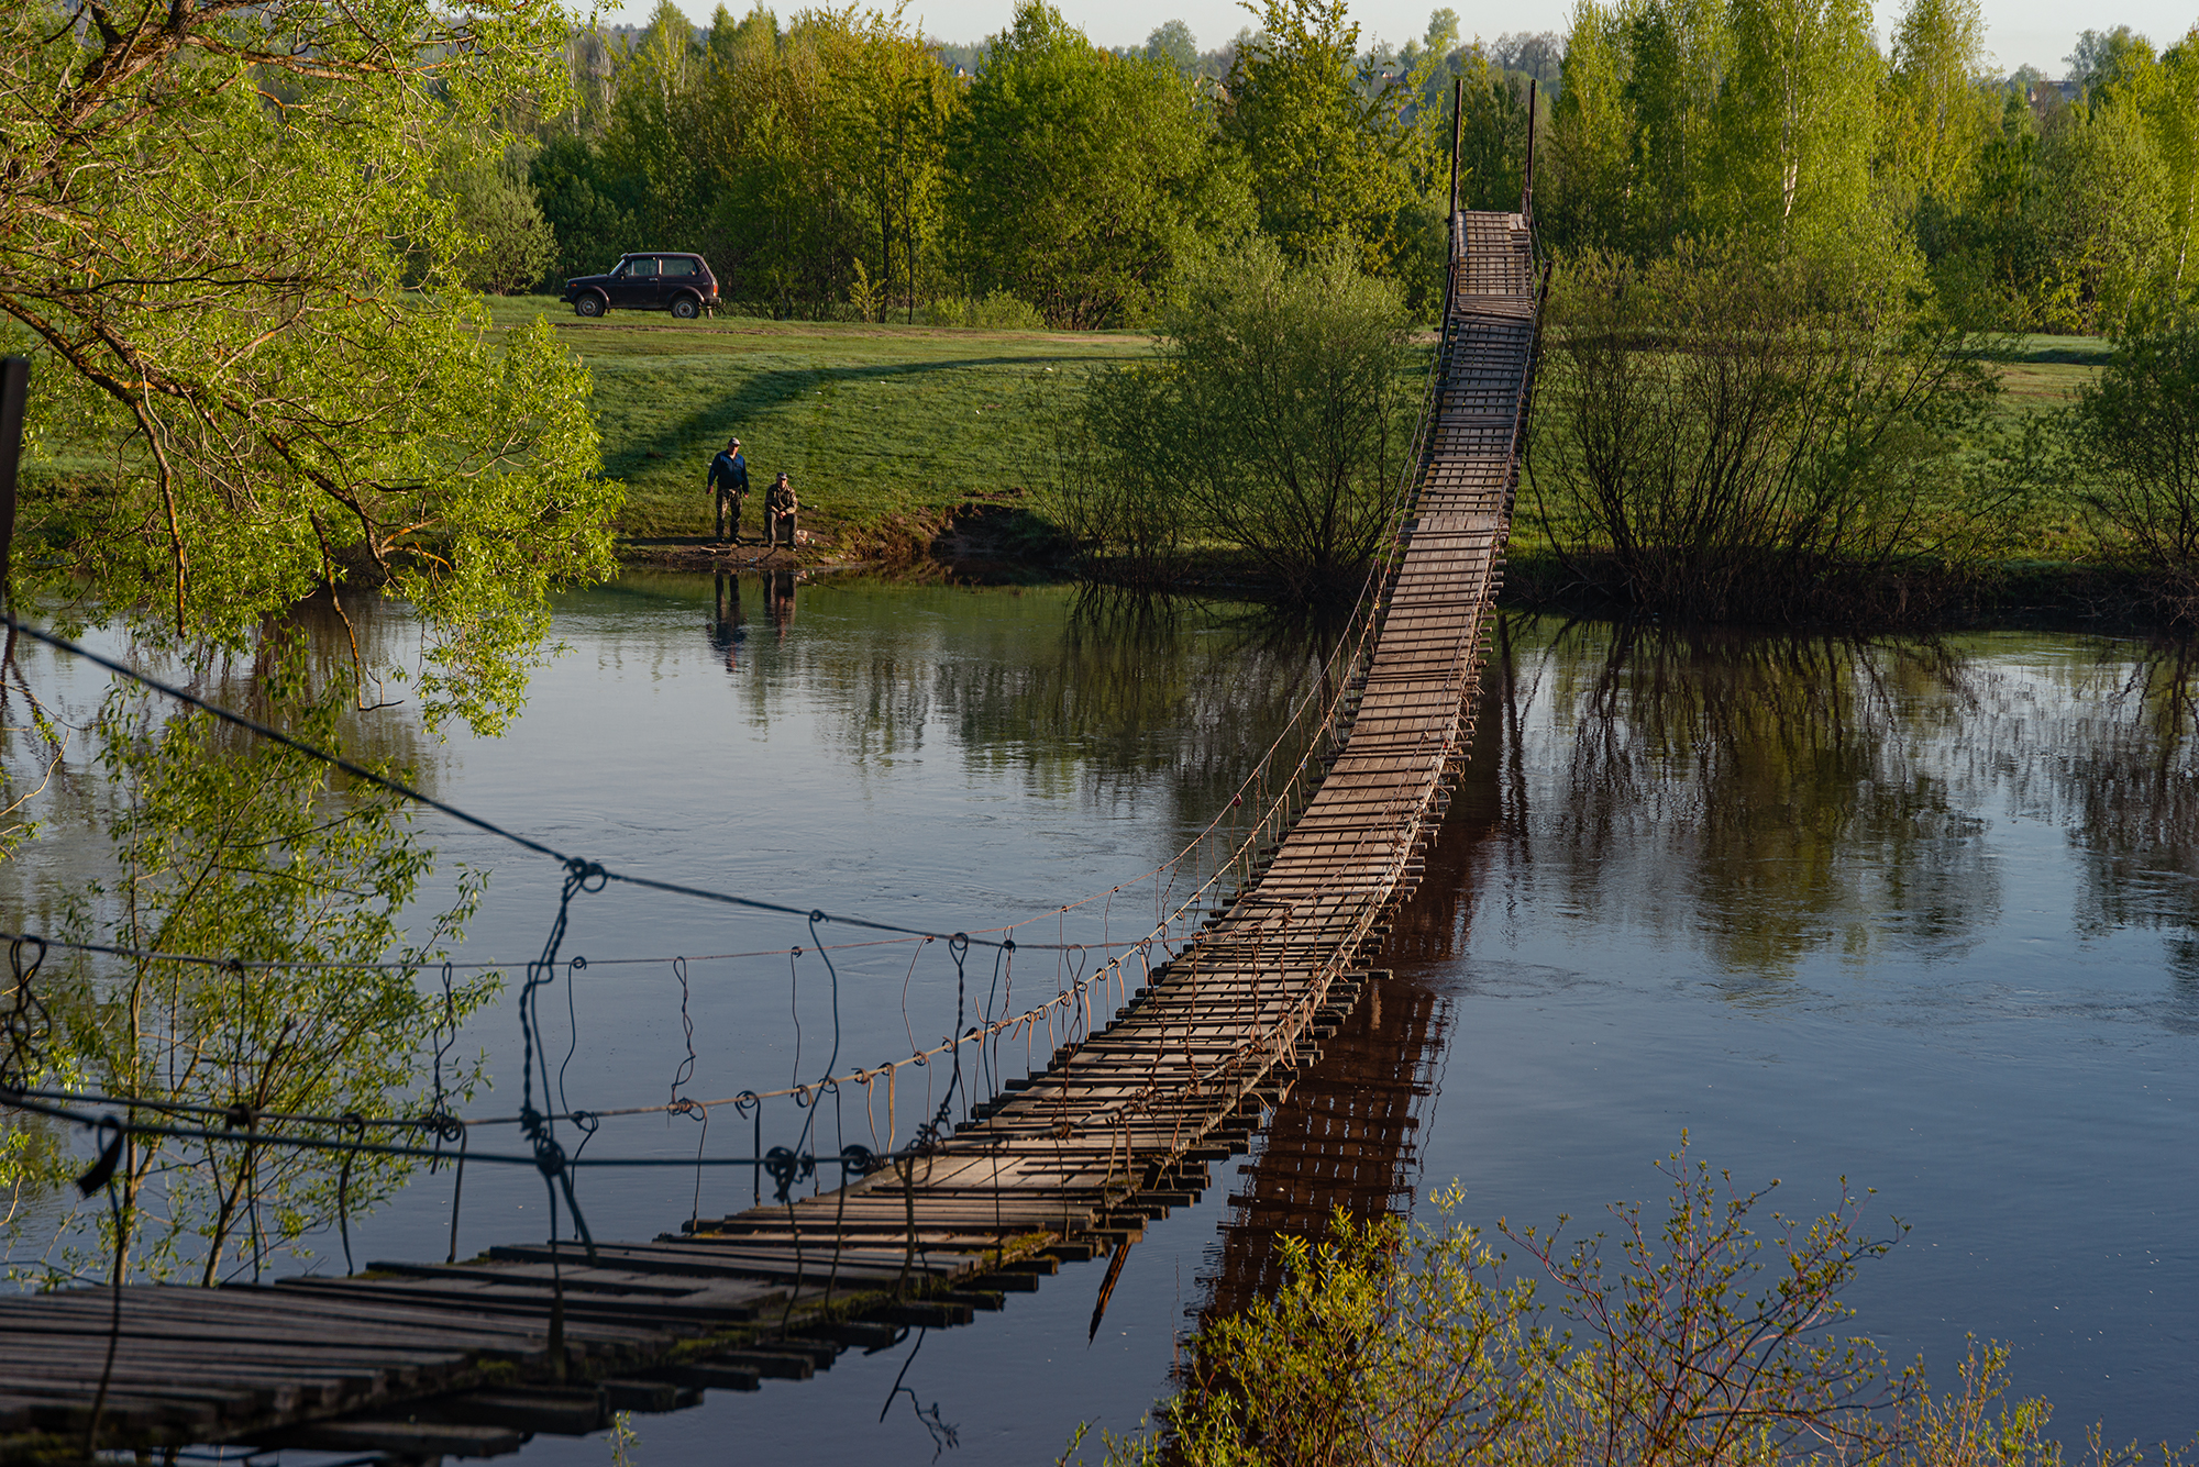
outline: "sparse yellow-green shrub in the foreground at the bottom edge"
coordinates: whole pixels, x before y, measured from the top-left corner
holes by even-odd
[[[1737,1190],[1684,1138],[1660,1171],[1660,1225],[1640,1203],[1612,1208],[1614,1239],[1572,1245],[1500,1223],[1539,1280],[1506,1280],[1456,1186],[1421,1228],[1339,1212],[1322,1245],[1284,1241],[1289,1283],[1201,1329],[1168,1449],[1194,1467],[1885,1456],[1913,1386],[1838,1333],[1841,1291],[1889,1250],[1863,1234],[1863,1199],[1843,1188],[1825,1217],[1772,1214],[1759,1236],[1770,1188]]]

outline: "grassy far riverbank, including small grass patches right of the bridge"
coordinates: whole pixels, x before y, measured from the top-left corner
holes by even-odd
[[[1014,503],[1045,477],[1058,413],[1073,411],[1091,373],[1141,360],[1143,332],[1042,332],[904,327],[721,316],[673,321],[614,314],[583,321],[550,296],[490,299],[499,327],[552,323],[592,378],[592,413],[603,435],[603,472],[625,485],[618,529],[629,538],[699,536],[710,527],[704,472],[728,435],[748,446],[756,499],[781,468],[803,496],[803,523],[822,531],[833,558],[877,558],[928,545],[970,501]],[[2107,360],[2107,343],[2027,336],[1999,365],[1997,413],[2016,419],[2069,402]],[[1410,371],[1421,371],[1423,336]],[[112,448],[46,444],[33,483],[99,494],[114,472]],[[128,455],[125,455],[128,457]],[[37,492],[37,488],[33,488]],[[2067,580],[2080,600],[2107,595],[2087,569],[2100,560],[2076,494],[2049,494],[2030,514],[2010,562],[2023,606],[2060,600]],[[1570,575],[1550,556],[1524,490],[1513,531],[1515,597],[1563,600]],[[761,503],[748,509],[756,531]],[[1045,527],[1016,520],[1012,534]],[[1014,560],[1018,545],[998,558]],[[1238,582],[1242,567],[1220,556],[1207,580]],[[2074,584],[2074,582],[2071,582]],[[2005,600],[2003,593],[1986,597]],[[1979,608],[1981,615],[1994,615]],[[1962,617],[1973,619],[1973,617]]]

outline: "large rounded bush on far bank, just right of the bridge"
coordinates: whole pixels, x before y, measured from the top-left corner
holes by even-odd
[[[1528,479],[1581,575],[1691,617],[1827,615],[2008,529],[2027,479],[1957,457],[1997,387],[1977,343],[1913,305],[1898,242],[1849,246],[1574,261]]]

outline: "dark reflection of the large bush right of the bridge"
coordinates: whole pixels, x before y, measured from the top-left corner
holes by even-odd
[[[1946,955],[1999,911],[1983,821],[1920,755],[1977,709],[1933,641],[1742,635],[1643,624],[1513,626],[1500,698],[1531,808],[1504,839],[1559,867],[1568,907],[1691,931],[1737,975],[1812,951]],[[1539,690],[1539,718],[1515,705]],[[1522,758],[1520,742],[1509,758]],[[1746,997],[1746,995],[1742,995]]]

